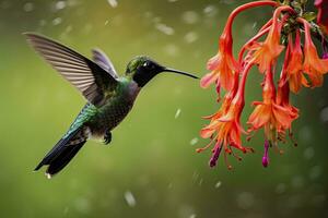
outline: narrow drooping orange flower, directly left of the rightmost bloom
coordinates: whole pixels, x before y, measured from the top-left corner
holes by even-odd
[[[286,60],[286,80],[289,81],[290,88],[293,93],[298,93],[302,85],[308,87],[308,82],[303,74],[303,51],[301,47],[300,31],[296,31],[295,44],[293,45],[293,38],[289,37],[288,55],[290,57]]]

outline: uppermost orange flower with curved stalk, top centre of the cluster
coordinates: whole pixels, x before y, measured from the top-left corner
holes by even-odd
[[[258,64],[259,71],[263,73],[268,70],[268,66],[272,65],[277,57],[284,49],[284,46],[280,45],[280,32],[282,22],[279,22],[278,17],[283,10],[290,10],[290,7],[279,7],[273,14],[273,23],[270,32],[263,43],[257,43],[251,46],[251,50],[255,50],[253,58],[254,62]]]

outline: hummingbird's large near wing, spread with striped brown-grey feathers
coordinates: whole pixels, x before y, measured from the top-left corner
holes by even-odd
[[[113,90],[118,84],[109,72],[72,49],[40,35],[25,35],[33,48],[91,104],[101,106],[105,92]]]

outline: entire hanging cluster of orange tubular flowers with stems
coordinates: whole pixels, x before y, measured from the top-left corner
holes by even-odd
[[[317,15],[306,11],[305,0],[254,1],[236,8],[229,16],[219,39],[219,52],[209,60],[208,70],[200,85],[216,86],[220,109],[204,117],[210,123],[200,131],[210,143],[198,148],[202,152],[212,147],[210,166],[214,167],[221,153],[227,168],[227,155],[241,159],[233,149],[251,153],[245,147],[242,135],[250,140],[255,132],[265,133],[262,165],[269,164],[268,150],[278,148],[279,142],[285,142],[286,135],[293,140],[292,123],[298,118],[298,109],[290,102],[290,93],[297,94],[303,87],[321,86],[324,74],[328,73],[328,0],[316,0]],[[250,8],[269,5],[273,8],[272,17],[250,38],[235,58],[233,55],[232,24],[237,14]],[[315,21],[316,20],[316,21]],[[323,53],[319,55],[313,38],[320,40]],[[278,58],[283,57],[281,70]],[[245,84],[251,68],[262,74],[262,100],[254,101],[254,111],[248,118],[248,129],[244,130],[241,116],[245,106]],[[221,99],[220,90],[225,95]],[[281,152],[281,150],[280,150]]]

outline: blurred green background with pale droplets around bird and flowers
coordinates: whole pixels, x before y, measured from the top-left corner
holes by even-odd
[[[159,62],[203,75],[216,52],[232,0],[0,0],[0,216],[1,217],[328,217],[328,83],[303,90],[294,132],[298,147],[282,144],[261,167],[259,132],[242,162],[223,159],[210,169],[208,142],[199,138],[213,113],[214,88],[173,74],[154,78],[110,146],[89,142],[52,180],[32,172],[84,105],[26,44],[23,32],[58,39],[90,57],[102,48],[122,74],[127,62],[148,55]],[[238,48],[270,16],[269,9],[243,13],[235,22]],[[244,121],[260,100],[261,76],[247,85]]]

